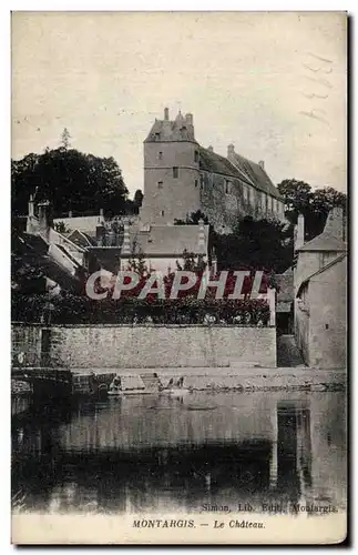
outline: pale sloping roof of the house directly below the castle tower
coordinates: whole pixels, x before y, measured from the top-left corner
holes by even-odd
[[[181,256],[185,249],[198,254],[198,230],[200,225],[153,225],[149,232],[130,233],[131,249],[135,244],[146,256]],[[207,252],[208,225],[204,225],[204,250]]]

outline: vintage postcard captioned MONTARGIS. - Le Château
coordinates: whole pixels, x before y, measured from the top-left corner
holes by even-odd
[[[347,536],[347,14],[12,13],[14,544]]]

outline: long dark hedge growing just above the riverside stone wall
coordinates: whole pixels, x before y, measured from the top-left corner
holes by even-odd
[[[265,326],[269,321],[269,307],[265,300],[231,301],[228,299],[194,297],[176,300],[136,297],[94,301],[86,296],[67,294],[53,297],[45,295],[13,294],[12,320],[40,322],[45,312],[51,312],[53,324],[236,324]]]

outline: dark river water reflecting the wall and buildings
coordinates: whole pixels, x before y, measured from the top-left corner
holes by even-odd
[[[13,509],[345,509],[345,406],[341,392],[257,392],[30,407],[12,424]]]

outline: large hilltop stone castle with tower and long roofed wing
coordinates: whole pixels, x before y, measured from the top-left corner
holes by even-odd
[[[143,224],[172,225],[201,210],[216,231],[233,229],[238,216],[285,221],[284,201],[264,169],[227,148],[227,158],[195,140],[193,115],[155,120],[144,141]]]

